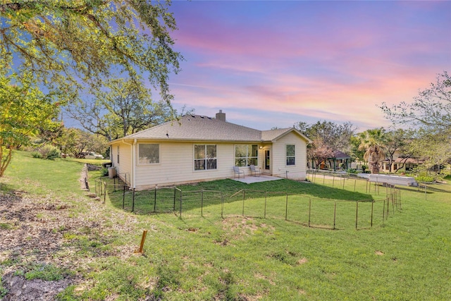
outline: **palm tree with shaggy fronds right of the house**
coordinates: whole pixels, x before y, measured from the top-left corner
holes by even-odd
[[[375,128],[359,134],[359,150],[365,151],[364,160],[368,161],[371,173],[379,173],[381,161],[385,159],[385,130]]]

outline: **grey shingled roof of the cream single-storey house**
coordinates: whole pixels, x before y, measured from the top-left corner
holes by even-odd
[[[292,132],[295,128],[255,130],[235,123],[200,115],[185,115],[179,121],[169,121],[118,140],[181,140],[181,141],[231,141],[270,142]],[[304,140],[307,137],[295,130]],[[113,140],[110,142],[114,142]]]

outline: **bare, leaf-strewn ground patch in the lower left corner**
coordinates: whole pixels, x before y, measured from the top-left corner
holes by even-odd
[[[108,233],[130,233],[135,223],[132,216],[107,211],[99,200],[88,197],[59,199],[51,193],[36,197],[0,191],[0,301],[55,300],[68,285],[82,293],[89,288],[83,275],[92,261],[129,257],[136,247],[91,245],[109,245],[117,234]],[[31,276],[47,267],[53,271],[48,280]]]

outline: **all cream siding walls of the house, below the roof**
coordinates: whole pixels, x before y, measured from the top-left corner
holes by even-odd
[[[141,143],[159,144],[159,163],[139,164],[138,152]],[[140,140],[135,147],[118,141],[111,145],[113,166],[116,167],[118,176],[122,180],[127,178],[127,183],[132,185],[132,177],[135,176],[135,188],[154,188],[156,185],[172,186],[186,183],[196,183],[206,180],[218,180],[233,178],[233,166],[235,166],[234,142],[168,142],[168,141],[145,141]],[[251,143],[249,144],[256,144]],[[117,162],[117,147],[120,147],[120,160]],[[216,169],[194,170],[194,145],[216,145]],[[286,165],[285,145],[295,145],[295,165]],[[296,133],[288,133],[281,137],[273,145],[259,145],[258,166],[264,171],[264,149],[271,150],[271,174],[293,180],[305,180],[307,171],[307,143]],[[135,162],[132,160],[134,152]],[[135,166],[132,166],[135,164]],[[240,167],[249,176],[249,167]]]

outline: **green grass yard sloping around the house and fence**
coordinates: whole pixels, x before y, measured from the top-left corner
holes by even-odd
[[[173,212],[174,190],[156,204],[152,192],[137,192],[134,213],[130,198],[122,209],[122,191],[109,190],[105,204],[89,199],[80,191],[81,168],[78,162],[18,152],[0,179],[0,193],[25,190],[68,204],[58,214],[73,226],[54,231],[61,244],[44,262],[70,280],[58,300],[450,300],[450,178],[428,187],[426,198],[423,190],[402,188],[402,209],[390,211],[385,221],[375,202],[372,228],[371,202],[359,202],[356,231],[355,202],[383,199],[385,188],[329,179],[199,183],[180,187],[187,199],[180,218]],[[97,176],[91,173],[91,179]],[[254,190],[244,216],[242,195],[230,197],[242,189]],[[201,207],[199,190],[228,198],[221,204],[218,192],[205,192]],[[279,192],[267,199],[266,219],[264,191]],[[289,195],[287,221],[287,197],[280,192]],[[312,224],[326,228],[333,225],[336,201],[339,230],[304,226],[307,199]],[[155,205],[161,210],[154,212]],[[1,214],[0,234],[20,227]],[[47,212],[39,219],[51,222]],[[143,230],[144,254],[135,255]],[[30,275],[33,256],[0,249],[0,275]],[[4,282],[0,296],[5,290]]]

